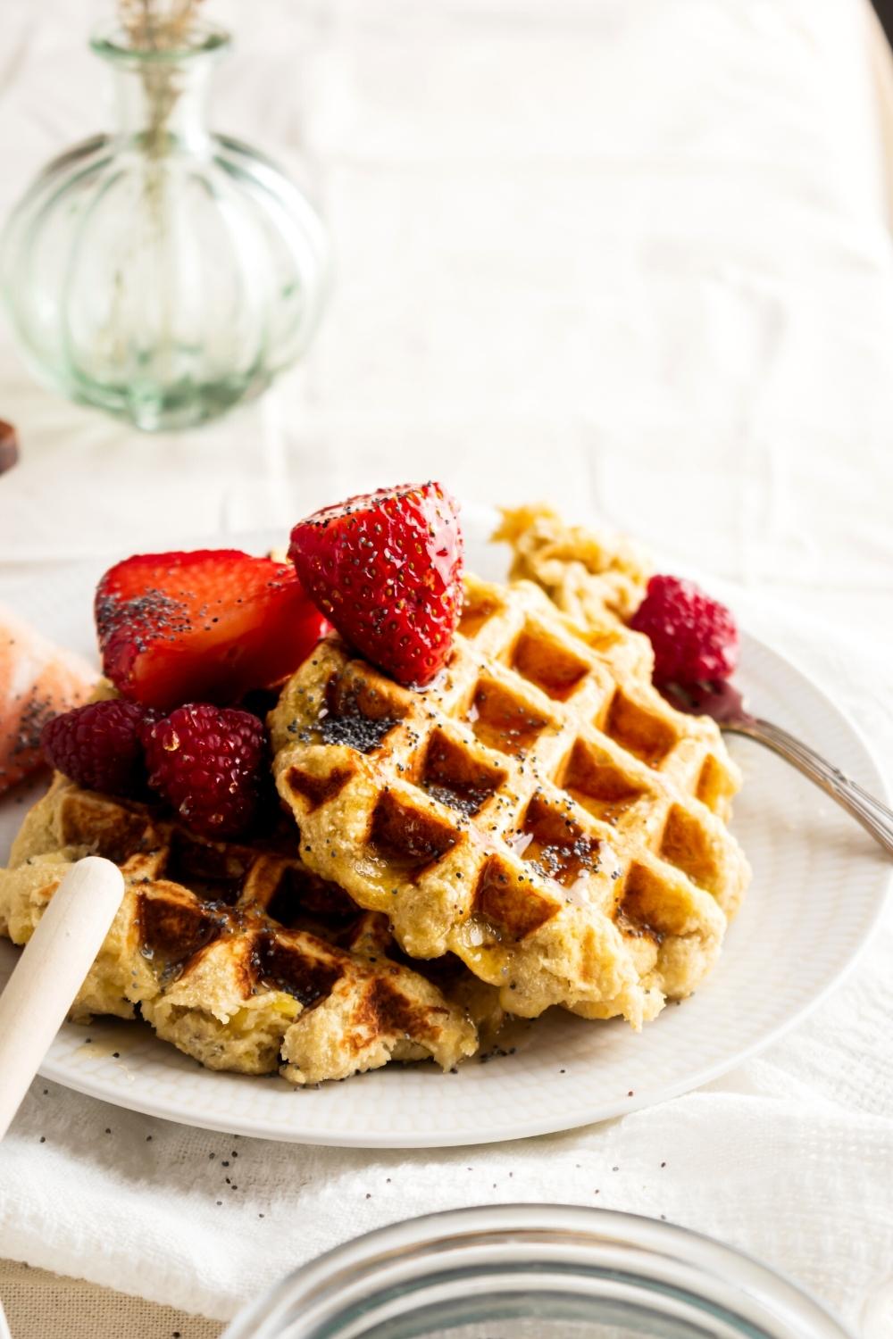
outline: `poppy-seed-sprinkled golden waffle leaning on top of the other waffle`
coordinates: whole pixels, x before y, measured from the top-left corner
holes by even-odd
[[[748,873],[719,731],[649,670],[619,621],[584,633],[537,586],[474,577],[424,692],[321,643],[269,718],[304,861],[510,1012],[639,1027],[702,980]]]

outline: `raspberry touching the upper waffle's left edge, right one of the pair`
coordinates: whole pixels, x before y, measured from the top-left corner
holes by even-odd
[[[248,711],[193,702],[142,731],[149,785],[204,837],[237,837],[254,821],[264,726]]]

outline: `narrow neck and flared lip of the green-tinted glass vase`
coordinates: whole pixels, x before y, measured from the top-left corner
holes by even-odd
[[[92,50],[111,66],[115,134],[155,155],[201,151],[208,143],[208,95],[229,37],[201,28],[182,47],[137,48],[120,29],[103,29]]]

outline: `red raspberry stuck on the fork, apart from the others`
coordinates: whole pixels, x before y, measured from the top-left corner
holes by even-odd
[[[728,679],[738,664],[738,628],[724,604],[679,577],[652,577],[631,620],[655,648],[655,683]]]

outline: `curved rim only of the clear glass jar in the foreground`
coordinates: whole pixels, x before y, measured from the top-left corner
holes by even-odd
[[[471,1295],[470,1281],[483,1277],[489,1297],[506,1276],[511,1287],[526,1279],[532,1292],[550,1291],[549,1280],[572,1288],[574,1280],[624,1277],[633,1306],[660,1310],[664,1299],[672,1307],[667,1299],[676,1292],[702,1322],[724,1316],[727,1335],[851,1339],[809,1292],[734,1247],[664,1220],[561,1204],[478,1205],[376,1228],[287,1275],[240,1314],[224,1339],[336,1336],[343,1327],[359,1334],[357,1299],[364,1322],[379,1334],[380,1299],[387,1306],[399,1295],[418,1306],[418,1312],[400,1312],[406,1319],[423,1314],[426,1289],[442,1292],[443,1279]],[[292,1328],[299,1314],[303,1328]]]

